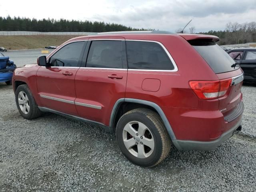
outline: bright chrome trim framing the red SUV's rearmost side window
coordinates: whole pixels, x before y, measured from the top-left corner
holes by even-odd
[[[170,58],[173,66],[174,66],[174,69],[173,70],[154,70],[154,69],[128,69],[128,71],[162,71],[162,72],[177,72],[178,71],[178,67],[174,61],[174,59],[172,58],[170,52],[166,49],[166,47],[159,41],[153,41],[153,40],[136,40],[136,39],[126,39],[125,41],[140,41],[140,42],[153,42],[153,43],[157,43],[159,44],[163,49],[164,51],[166,52],[167,56]],[[127,55],[127,53],[126,53]]]

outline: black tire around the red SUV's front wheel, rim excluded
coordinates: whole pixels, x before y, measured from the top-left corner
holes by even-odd
[[[28,102],[29,102],[29,106],[30,106],[28,114],[25,114],[24,112],[22,112],[22,110],[19,106],[18,95],[21,91],[24,92],[26,94],[26,96],[28,97]],[[16,100],[16,105],[17,105],[17,108],[18,108],[21,116],[23,116],[25,119],[34,119],[34,118],[39,117],[42,114],[42,112],[39,110],[39,108],[34,100],[34,97],[32,96],[30,89],[28,88],[27,84],[18,86],[18,88],[16,89],[16,92],[15,92],[15,100]]]

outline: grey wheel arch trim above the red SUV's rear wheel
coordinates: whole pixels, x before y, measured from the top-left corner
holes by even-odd
[[[172,127],[171,127],[168,119],[166,118],[163,110],[160,108],[160,106],[158,106],[158,104],[156,104],[154,102],[147,101],[147,100],[140,100],[140,99],[134,99],[134,98],[118,99],[116,101],[116,103],[114,104],[114,107],[113,107],[111,115],[110,115],[110,122],[109,122],[110,127],[114,128],[116,126],[116,123],[120,118],[120,117],[118,118],[118,114],[119,114],[119,112],[122,112],[121,106],[123,106],[124,104],[136,104],[135,108],[140,108],[142,106],[146,106],[146,108],[150,108],[150,109],[154,110],[155,112],[157,112],[160,115],[162,121],[164,122],[164,125],[166,127],[166,130],[168,131],[168,134],[169,134],[171,140],[176,140],[176,137],[172,130]],[[131,110],[132,109],[134,109],[134,108],[132,107]]]

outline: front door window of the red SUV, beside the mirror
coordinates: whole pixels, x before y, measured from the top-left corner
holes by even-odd
[[[84,41],[67,44],[56,52],[49,60],[51,66],[80,67],[79,58]]]

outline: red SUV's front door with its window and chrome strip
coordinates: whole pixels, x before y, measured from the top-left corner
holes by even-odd
[[[82,62],[87,40],[68,42],[47,58],[36,74],[38,94],[43,107],[77,115],[74,100],[75,76]]]

